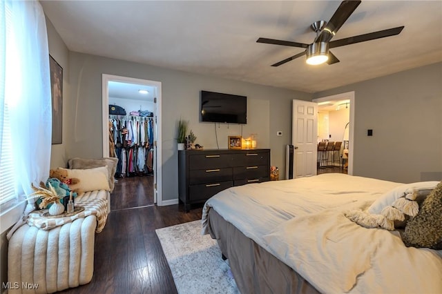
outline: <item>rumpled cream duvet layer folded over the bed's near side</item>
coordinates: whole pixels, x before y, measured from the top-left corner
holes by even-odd
[[[442,293],[442,251],[406,247],[397,231],[363,228],[336,209],[291,219],[264,239],[323,293]]]

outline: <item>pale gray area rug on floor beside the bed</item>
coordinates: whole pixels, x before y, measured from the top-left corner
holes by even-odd
[[[201,229],[198,220],[155,230],[178,293],[240,293],[218,244]]]

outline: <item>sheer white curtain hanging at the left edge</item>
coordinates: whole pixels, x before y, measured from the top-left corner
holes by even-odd
[[[6,103],[10,110],[15,191],[32,193],[31,183],[49,176],[52,108],[48,35],[38,1],[6,0],[12,26],[6,36]],[[33,210],[33,202],[25,214]]]

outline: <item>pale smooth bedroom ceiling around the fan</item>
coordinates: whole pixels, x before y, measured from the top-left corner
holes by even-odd
[[[442,1],[361,3],[332,40],[405,26],[400,35],[333,48],[309,66],[309,28],[340,1],[40,1],[69,50],[302,92],[318,92],[442,61]]]

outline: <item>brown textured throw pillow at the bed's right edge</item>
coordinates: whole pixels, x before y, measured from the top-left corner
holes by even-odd
[[[407,222],[401,237],[407,247],[442,250],[442,182],[423,201],[419,213]]]

